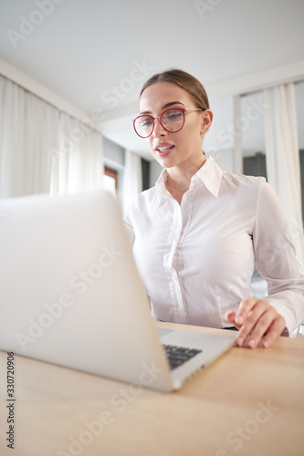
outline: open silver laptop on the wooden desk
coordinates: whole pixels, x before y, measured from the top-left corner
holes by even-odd
[[[0,252],[2,350],[172,391],[234,345],[157,328],[110,192],[0,200]]]

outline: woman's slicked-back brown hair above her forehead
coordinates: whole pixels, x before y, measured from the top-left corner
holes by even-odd
[[[171,82],[172,84],[183,88],[183,90],[185,90],[193,99],[197,108],[209,109],[209,100],[203,84],[182,69],[172,68],[153,75],[142,86],[140,98],[142,97],[143,90],[156,82]]]

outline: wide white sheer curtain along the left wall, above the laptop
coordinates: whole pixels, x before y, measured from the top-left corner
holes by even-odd
[[[0,197],[98,190],[102,137],[0,75]]]

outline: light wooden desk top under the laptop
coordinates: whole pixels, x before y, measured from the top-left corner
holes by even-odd
[[[0,352],[1,456],[304,454],[303,339],[233,347],[172,394],[16,357],[14,451],[5,441],[6,357]]]

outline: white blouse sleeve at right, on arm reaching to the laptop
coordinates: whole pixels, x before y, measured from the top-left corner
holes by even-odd
[[[278,195],[260,181],[253,231],[257,270],[267,281],[267,300],[284,316],[288,333],[304,320],[304,275]]]

